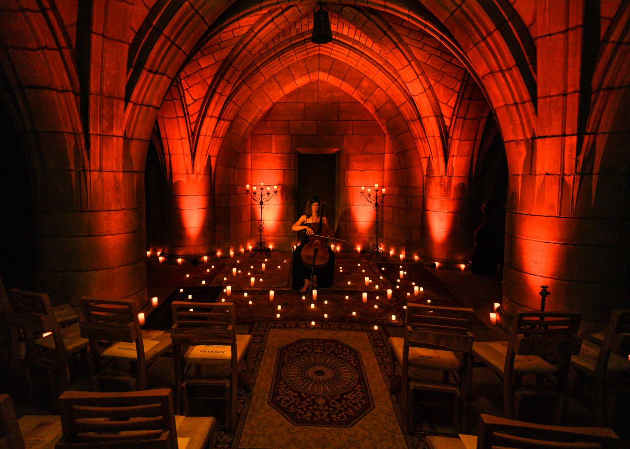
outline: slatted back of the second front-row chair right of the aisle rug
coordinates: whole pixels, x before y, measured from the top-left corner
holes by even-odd
[[[580,319],[579,313],[519,313],[512,322],[505,375],[512,375],[517,355],[535,355],[554,360],[560,370],[558,377],[566,379],[571,355],[580,353],[582,340],[577,336]]]

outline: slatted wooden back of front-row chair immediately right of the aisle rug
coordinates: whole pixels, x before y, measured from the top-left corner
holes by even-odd
[[[405,350],[420,347],[470,352],[473,317],[473,309],[468,308],[407,304]]]

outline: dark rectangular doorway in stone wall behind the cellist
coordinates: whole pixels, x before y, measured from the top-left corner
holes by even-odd
[[[319,196],[326,203],[328,226],[335,234],[335,187],[337,156],[335,154],[297,154],[297,214],[304,213],[311,196]],[[322,206],[321,204],[320,206]]]

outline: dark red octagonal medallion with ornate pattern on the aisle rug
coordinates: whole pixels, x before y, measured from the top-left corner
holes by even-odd
[[[316,338],[278,348],[269,403],[301,426],[347,428],[374,408],[360,353]]]

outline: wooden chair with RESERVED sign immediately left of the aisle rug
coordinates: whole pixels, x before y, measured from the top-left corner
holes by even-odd
[[[226,429],[236,424],[238,377],[245,365],[246,389],[251,389],[251,335],[236,333],[232,302],[173,301],[173,358],[176,404],[188,409],[191,387],[219,387],[226,401]],[[237,357],[232,357],[236,354]],[[193,372],[191,372],[193,371]]]

